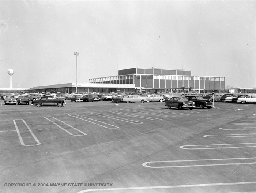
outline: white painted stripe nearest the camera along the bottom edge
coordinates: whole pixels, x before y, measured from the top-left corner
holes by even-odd
[[[79,191],[84,192],[96,192],[96,191],[110,191],[110,190],[141,190],[141,189],[163,189],[163,188],[188,188],[188,187],[202,187],[202,186],[227,186],[227,185],[245,185],[256,184],[256,182],[234,182],[234,183],[207,183],[207,184],[191,184],[191,185],[176,185],[176,186],[147,186],[147,187],[129,187],[129,188],[102,188],[102,189],[87,189]]]

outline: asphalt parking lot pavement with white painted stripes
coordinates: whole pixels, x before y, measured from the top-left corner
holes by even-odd
[[[0,101],[0,192],[255,191],[256,104]]]

